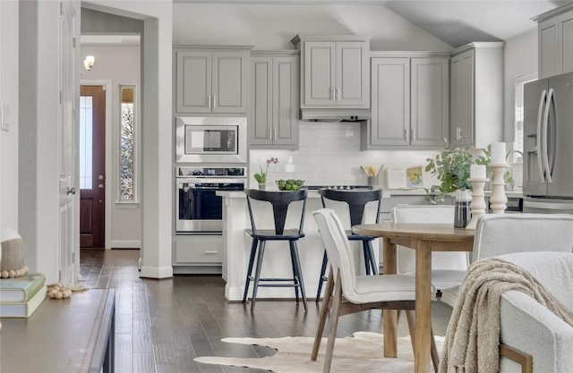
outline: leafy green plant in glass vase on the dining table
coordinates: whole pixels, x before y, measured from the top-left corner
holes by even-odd
[[[454,226],[465,227],[470,219],[469,204],[472,200],[472,184],[470,178],[471,165],[485,165],[486,174],[490,174],[490,151],[469,146],[452,148],[448,141],[446,148],[435,157],[427,158],[425,171],[437,175],[439,185],[425,189],[428,200],[436,204],[444,200],[447,194],[454,195],[456,217]]]

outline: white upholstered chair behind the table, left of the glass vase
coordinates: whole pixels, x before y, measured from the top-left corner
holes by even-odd
[[[394,223],[454,224],[450,205],[398,205],[390,210]],[[415,275],[415,250],[398,246],[398,274]],[[432,292],[440,298],[444,289],[462,283],[469,266],[466,252],[432,252]]]

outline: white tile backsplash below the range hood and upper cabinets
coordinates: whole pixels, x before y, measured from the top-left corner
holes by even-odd
[[[361,165],[425,165],[432,150],[360,150],[360,123],[300,123],[298,150],[251,150],[249,186],[256,186],[253,174],[266,167],[267,159],[278,157],[269,166],[268,181],[302,179],[306,185],[366,185]],[[380,185],[384,186],[381,173]],[[429,176],[424,175],[424,179]]]

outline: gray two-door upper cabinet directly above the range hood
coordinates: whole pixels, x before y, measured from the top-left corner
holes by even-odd
[[[370,107],[370,38],[298,35],[301,107]]]

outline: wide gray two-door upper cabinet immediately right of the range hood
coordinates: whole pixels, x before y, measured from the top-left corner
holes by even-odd
[[[449,133],[449,55],[372,53],[372,120],[361,148],[440,148]]]

